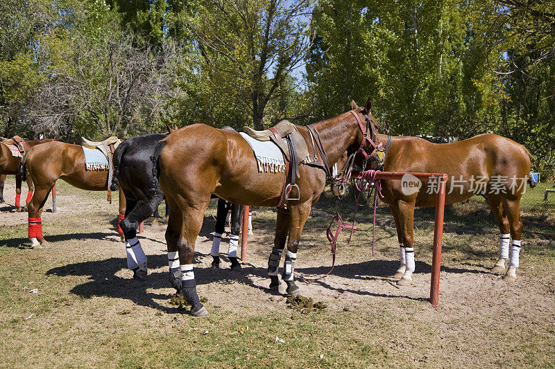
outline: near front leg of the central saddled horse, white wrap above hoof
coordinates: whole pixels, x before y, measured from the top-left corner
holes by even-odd
[[[289,240],[287,241],[287,253],[283,263],[282,279],[287,283],[287,294],[298,295],[299,287],[295,284],[295,262],[297,261],[297,250],[300,242],[302,228],[305,226],[310,214],[311,204],[306,202],[300,206],[291,208],[291,222],[289,222]]]

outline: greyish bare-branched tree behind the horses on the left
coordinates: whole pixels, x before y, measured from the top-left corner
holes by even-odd
[[[178,93],[171,69],[176,48],[165,44],[155,55],[126,34],[91,41],[76,35],[63,55],[66,64],[52,71],[35,96],[29,112],[35,129],[74,129],[95,138],[152,132],[167,100]]]

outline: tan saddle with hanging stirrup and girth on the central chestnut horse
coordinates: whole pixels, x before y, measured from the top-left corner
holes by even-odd
[[[258,141],[273,141],[280,147],[286,160],[286,167],[289,163],[289,168],[286,169],[286,172],[289,171],[289,183],[287,183],[286,177],[278,207],[284,205],[287,200],[298,200],[300,190],[295,184],[296,178],[300,177],[298,165],[309,161],[309,152],[305,138],[302,138],[295,125],[289,120],[282,120],[274,127],[264,131],[255,131],[252,128],[243,127],[243,132]],[[290,195],[293,187],[297,188],[296,197]]]

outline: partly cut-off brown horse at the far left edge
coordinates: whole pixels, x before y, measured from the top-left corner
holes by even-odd
[[[43,138],[42,140],[30,140],[26,141],[29,147],[40,145],[41,143],[51,142],[52,138]],[[10,149],[6,145],[0,144],[0,203],[4,202],[3,199],[3,188],[4,181],[6,180],[5,174],[15,174],[15,207],[17,211],[22,211],[23,208],[20,205],[20,197],[22,195],[22,158],[13,156]],[[34,186],[33,182],[29,177],[27,177],[27,186],[29,192],[27,199],[25,201],[25,206],[28,206],[31,197],[33,196]]]

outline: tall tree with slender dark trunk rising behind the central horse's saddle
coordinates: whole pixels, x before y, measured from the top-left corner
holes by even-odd
[[[200,3],[190,27],[203,59],[199,82],[212,96],[206,101],[212,119],[244,125],[248,112],[255,129],[264,129],[266,107],[287,93],[287,78],[310,44],[309,6],[311,0]]]

